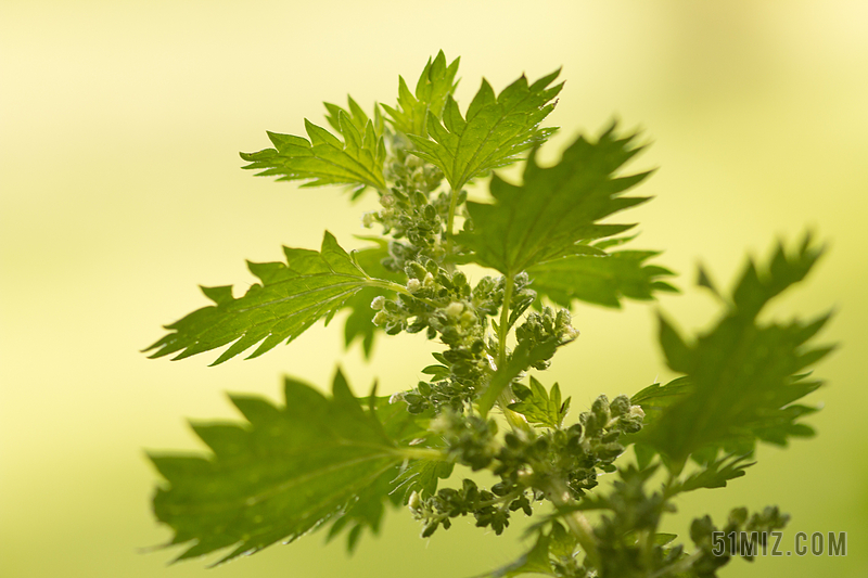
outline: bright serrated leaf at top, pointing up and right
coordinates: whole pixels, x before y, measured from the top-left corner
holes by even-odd
[[[522,75],[495,97],[483,80],[467,117],[461,116],[450,94],[446,97],[443,121],[427,115],[427,137],[410,134],[413,154],[443,170],[454,191],[492,169],[507,166],[518,155],[544,142],[554,129],[539,128],[539,123],[554,108],[551,102],[561,85],[548,88],[560,70],[527,84]]]

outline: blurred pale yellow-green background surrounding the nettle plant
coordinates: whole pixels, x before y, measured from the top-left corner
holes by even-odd
[[[222,391],[279,397],[280,376],[324,386],[335,364],[357,391],[411,386],[421,336],[381,342],[371,363],[317,325],[264,358],[148,360],[159,325],[202,306],[196,284],[252,282],[243,259],[318,247],[328,227],[359,246],[337,189],[298,190],[239,169],[265,130],[302,133],[347,91],[392,103],[443,49],[462,59],[459,102],[559,66],[566,86],[547,158],[610,118],[644,129],[637,168],[656,198],[633,210],[638,248],[685,290],[614,312],[579,307],[579,341],[546,375],[580,411],[599,394],[671,377],[655,345],[660,307],[686,331],[716,314],[693,286],[705,262],[728,285],[746,253],[806,228],[830,246],[775,313],[838,310],[841,347],[817,372],[819,432],[726,490],[694,493],[669,521],[778,503],[795,531],[846,531],[846,557],[737,561],[723,576],[866,576],[868,418],[864,367],[868,232],[868,3],[535,0],[398,2],[0,2],[0,575],[20,577],[470,577],[510,561],[506,538],[457,524],[430,540],[405,512],[349,557],[321,535],[216,569],[142,553],[169,536],[149,511],[144,449],[199,448],[184,418],[233,418]],[[475,194],[484,194],[480,189]]]

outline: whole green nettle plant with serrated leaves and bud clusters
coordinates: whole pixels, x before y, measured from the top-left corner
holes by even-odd
[[[681,376],[570,415],[570,398],[537,373],[578,336],[570,308],[676,291],[669,270],[648,264],[655,252],[622,248],[633,224],[608,221],[648,201],[626,194],[649,175],[624,174],[641,146],[612,125],[540,166],[559,72],[499,94],[483,80],[462,114],[457,70],[441,52],[414,92],[399,80],[395,107],[369,116],[352,98],[347,108],[327,103],[332,131],[305,120],[308,138],[269,132],[272,149],[241,155],[278,180],[346,185],[353,198],[372,190],[382,208],[363,223],[382,235],[347,252],[327,232],[320,251],[251,262],[259,282],[243,296],[202,287],[214,304],[166,325],[152,357],[227,345],[214,364],[254,346],[257,357],[348,311],[347,347],[360,341],[370,357],[380,332],[424,332],[435,363],[391,397],[375,386],[357,397],[340,370],[331,396],[288,377],[283,407],[233,395],[246,422],[194,423],[210,453],[152,453],[165,478],[154,513],[174,530],[169,545],[187,548],[177,560],[222,550],[219,564],[319,527],[345,532],[352,551],[390,505],[408,506],[424,538],[463,516],[499,535],[513,516],[535,515],[528,550],[493,576],[706,577],[732,556],[750,560],[738,540],[715,550],[713,532],[765,536],[787,522],[777,508],[738,508],[720,525],[698,517],[690,547],[659,528],[677,496],[744,475],[757,441],[812,435],[801,419],[815,408],[796,401],[821,385],[805,370],[831,350],[808,344],[829,316],[757,317],[821,249],[806,235],[766,264],[749,259],[731,294],[700,270],[722,305],[717,323],[686,339],[660,317],[666,363]],[[492,175],[490,200],[468,198],[469,183],[528,151],[521,184]],[[467,265],[494,272],[473,281]],[[490,487],[468,477],[483,470]],[[613,481],[598,485],[602,474]]]

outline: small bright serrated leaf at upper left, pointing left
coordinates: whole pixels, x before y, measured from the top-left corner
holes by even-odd
[[[368,119],[353,99],[349,112],[329,103],[326,107],[329,123],[343,141],[305,119],[310,140],[268,132],[275,149],[241,153],[241,158],[250,163],[243,168],[258,170],[258,177],[279,176],[279,181],[307,181],[302,187],[355,184],[385,190],[382,119]]]

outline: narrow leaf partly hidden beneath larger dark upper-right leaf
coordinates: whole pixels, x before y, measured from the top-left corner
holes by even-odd
[[[668,269],[644,265],[659,255],[652,251],[617,251],[603,256],[567,255],[527,269],[533,288],[563,307],[574,300],[604,307],[621,307],[624,298],[651,300],[655,292],[677,293],[661,281],[673,275]]]

